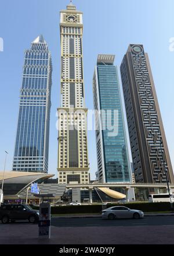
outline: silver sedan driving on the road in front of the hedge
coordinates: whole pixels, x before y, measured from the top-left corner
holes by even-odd
[[[103,219],[140,219],[144,218],[144,213],[139,210],[132,210],[125,206],[113,206],[102,211]]]

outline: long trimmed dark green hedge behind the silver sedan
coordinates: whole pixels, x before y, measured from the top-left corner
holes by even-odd
[[[119,206],[119,204],[108,204],[106,207]],[[143,212],[160,212],[171,211],[171,204],[169,202],[159,203],[127,203],[121,204],[131,209],[138,209]],[[32,206],[33,209],[38,209],[38,206]],[[52,214],[70,214],[70,213],[100,213],[102,212],[102,205],[66,205],[66,206],[52,206]]]

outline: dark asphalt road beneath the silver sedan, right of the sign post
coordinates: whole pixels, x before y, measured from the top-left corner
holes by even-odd
[[[113,226],[166,226],[174,225],[174,216],[150,216],[144,219],[102,218],[52,218],[52,226],[56,227],[113,227]]]

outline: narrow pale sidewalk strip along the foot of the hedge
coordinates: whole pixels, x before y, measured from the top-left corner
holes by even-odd
[[[144,217],[149,216],[174,216],[173,213],[154,213],[154,212],[144,212]],[[77,218],[102,218],[102,214],[65,214],[65,215],[52,215],[52,218],[71,218],[71,219],[77,219]]]

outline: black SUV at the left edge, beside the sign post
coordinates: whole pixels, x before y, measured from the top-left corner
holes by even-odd
[[[15,220],[28,220],[35,223],[39,219],[39,211],[33,210],[29,205],[2,204],[0,207],[0,220],[3,224],[14,222]]]

